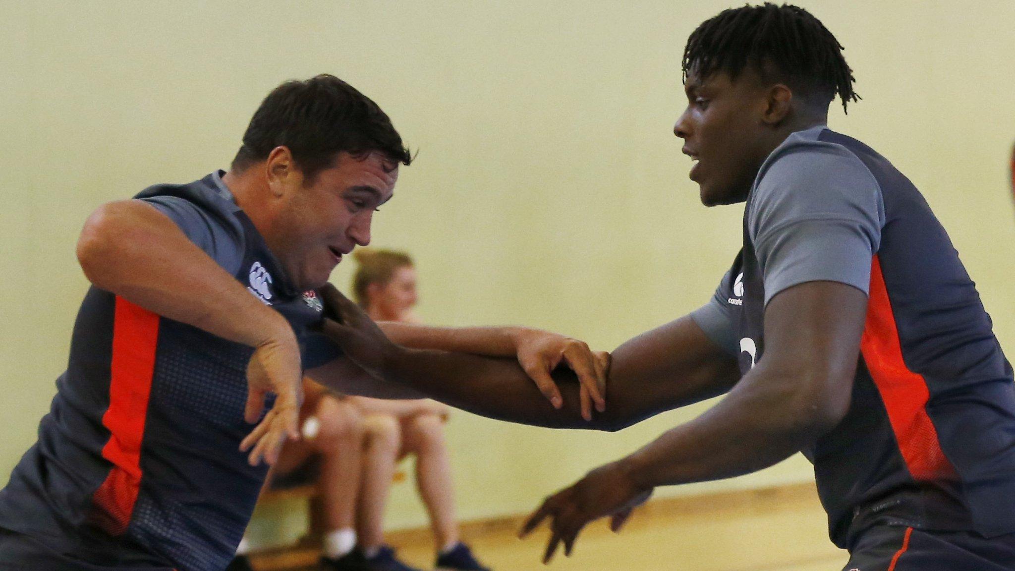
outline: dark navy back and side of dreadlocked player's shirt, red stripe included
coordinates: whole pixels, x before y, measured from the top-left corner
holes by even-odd
[[[860,158],[884,202],[853,403],[809,451],[833,540],[877,521],[1015,531],[1015,384],[974,283],[887,160],[827,129],[817,141]]]

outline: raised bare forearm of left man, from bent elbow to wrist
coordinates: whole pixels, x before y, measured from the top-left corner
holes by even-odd
[[[270,338],[294,340],[280,314],[149,204],[127,200],[99,208],[86,223],[77,253],[97,288],[161,316],[251,346]]]

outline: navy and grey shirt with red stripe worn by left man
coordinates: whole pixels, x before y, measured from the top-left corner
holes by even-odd
[[[136,198],[288,320],[304,368],[340,356],[312,331],[316,293],[292,287],[221,172]],[[254,427],[244,421],[252,354],[89,289],[39,441],[0,491],[0,547],[24,540],[0,549],[0,569],[26,558],[41,570],[224,568],[267,472],[239,450]]]

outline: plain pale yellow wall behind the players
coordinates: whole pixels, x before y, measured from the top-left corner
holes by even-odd
[[[845,45],[864,97],[831,126],[924,190],[1010,346],[1015,2],[801,4]],[[612,348],[703,303],[739,247],[740,211],[698,204],[671,126],[687,35],[728,5],[0,0],[0,472],[33,441],[65,367],[85,216],[226,167],[286,78],[349,80],[420,149],[375,244],[416,256],[427,321],[525,323]],[[613,435],[459,414],[461,514],[526,511],[701,409]],[[798,457],[666,493],[810,477]],[[423,521],[411,489],[397,487],[393,526]]]

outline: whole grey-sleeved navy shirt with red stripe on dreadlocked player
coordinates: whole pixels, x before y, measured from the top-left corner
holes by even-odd
[[[1015,382],[975,287],[916,187],[823,126],[766,158],[744,247],[692,318],[746,374],[769,301],[815,280],[868,295],[850,408],[803,451],[832,540],[877,523],[1015,532]]]

